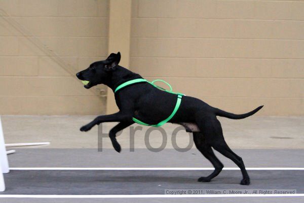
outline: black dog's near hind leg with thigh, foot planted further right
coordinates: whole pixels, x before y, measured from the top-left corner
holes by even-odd
[[[243,175],[243,180],[240,184],[249,185],[250,178],[247,174],[244,162],[242,158],[235,154],[226,144],[220,122],[217,120],[217,118],[210,115],[208,117],[198,118],[197,120],[199,127],[206,137],[207,143],[209,143],[216,151],[235,162],[235,164],[240,167]]]

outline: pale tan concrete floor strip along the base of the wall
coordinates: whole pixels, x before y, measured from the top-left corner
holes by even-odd
[[[90,122],[94,116],[1,116],[6,143],[51,142],[43,148],[97,148],[98,126],[88,132],[79,128]],[[303,149],[304,117],[258,117],[242,120],[219,118],[226,142],[231,148],[243,149]],[[99,129],[107,133],[115,123],[104,123]],[[132,125],[133,128],[138,126]],[[131,127],[132,127],[131,126]],[[172,149],[171,134],[178,125],[165,124],[166,148]],[[148,127],[134,134],[134,147],[146,148],[144,134]],[[123,149],[130,148],[130,128],[117,138]],[[189,133],[177,133],[176,143],[186,147]],[[152,147],[162,144],[160,131],[152,131],[149,143]],[[103,139],[103,148],[112,148],[109,139]]]

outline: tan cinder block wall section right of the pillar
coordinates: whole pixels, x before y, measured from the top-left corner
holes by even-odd
[[[133,1],[131,70],[211,106],[303,115],[304,2]]]

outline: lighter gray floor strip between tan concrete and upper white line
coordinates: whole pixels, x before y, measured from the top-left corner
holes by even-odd
[[[302,149],[233,149],[246,167],[304,167]],[[215,151],[225,167],[237,167]],[[164,149],[18,149],[8,156],[10,167],[212,167],[197,150]]]

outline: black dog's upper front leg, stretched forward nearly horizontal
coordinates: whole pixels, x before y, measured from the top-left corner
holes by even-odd
[[[80,131],[89,131],[94,125],[99,125],[103,122],[131,122],[132,114],[128,113],[115,113],[110,115],[97,116],[93,121],[80,128]]]

